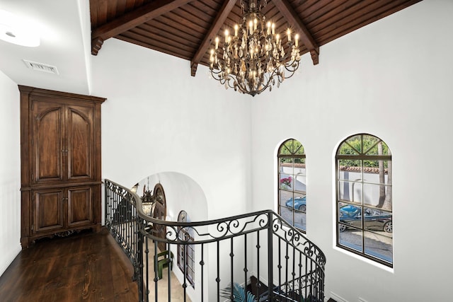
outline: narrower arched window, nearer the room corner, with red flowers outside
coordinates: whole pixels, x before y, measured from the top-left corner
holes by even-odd
[[[306,231],[306,170],[304,146],[284,141],[278,149],[278,214]]]

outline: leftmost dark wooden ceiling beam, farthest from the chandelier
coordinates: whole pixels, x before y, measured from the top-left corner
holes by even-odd
[[[120,35],[131,28],[134,28],[140,24],[143,24],[153,18],[159,17],[164,13],[173,11],[173,9],[188,4],[193,0],[155,0],[140,6],[134,11],[130,11],[119,18],[115,18],[109,23],[101,25],[91,33],[91,54],[97,55],[98,51],[101,50],[103,42],[110,37]]]

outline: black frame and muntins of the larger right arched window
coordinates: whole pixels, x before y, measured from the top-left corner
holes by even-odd
[[[376,139],[376,141],[371,145],[371,147],[367,147],[366,150],[364,150],[364,136],[367,136],[367,137],[372,137],[374,139]],[[360,137],[360,150],[358,154],[339,154],[340,153],[340,149],[342,148],[343,144],[348,144],[348,140],[350,139],[353,139],[355,137]],[[375,146],[377,146],[379,144],[379,142],[382,142],[383,144],[385,144],[386,146],[386,149],[387,149],[387,154],[378,154],[378,155],[369,155],[367,154],[370,150],[374,149]],[[348,144],[349,146],[351,146],[350,144]],[[352,148],[352,146],[351,146]],[[355,151],[357,151],[357,149],[355,149]],[[356,202],[355,200],[346,200],[346,199],[341,199],[340,198],[340,182],[346,182],[346,180],[344,178],[340,178],[340,172],[341,172],[341,167],[345,167],[345,166],[340,166],[340,161],[342,160],[350,160],[350,161],[360,161],[360,175],[361,177],[358,178],[358,179],[354,179],[354,180],[348,180],[348,182],[352,182],[353,185],[352,185],[352,188],[354,186],[354,184],[360,184],[361,187],[360,187],[360,191],[361,191],[361,195],[360,195],[360,202]],[[353,134],[351,135],[350,137],[347,137],[346,139],[344,139],[343,141],[341,141],[341,143],[339,144],[338,146],[338,149],[336,151],[336,156],[335,156],[335,165],[336,165],[336,169],[335,169],[335,173],[336,173],[336,221],[335,221],[335,226],[336,226],[336,247],[337,248],[340,248],[340,249],[343,249],[343,250],[348,250],[349,252],[352,252],[354,253],[355,255],[360,255],[361,257],[365,257],[369,260],[372,260],[374,262],[377,262],[379,264],[382,264],[382,265],[385,265],[386,267],[391,267],[393,268],[394,266],[394,251],[393,251],[393,248],[394,248],[394,238],[393,238],[393,198],[392,198],[392,195],[391,195],[391,192],[392,192],[392,187],[393,187],[393,184],[389,182],[386,182],[385,181],[385,175],[387,175],[387,180],[391,180],[391,174],[392,174],[392,170],[391,168],[384,168],[384,183],[382,182],[370,182],[369,180],[366,180],[366,178],[364,178],[364,175],[365,174],[368,174],[370,173],[369,171],[367,171],[365,168],[366,166],[364,165],[364,163],[366,161],[384,161],[387,163],[387,165],[389,167],[391,167],[392,165],[392,156],[391,156],[391,151],[390,151],[390,148],[389,146],[386,144],[385,141],[383,141],[382,139],[380,139],[379,137],[376,137],[372,134],[366,134],[366,133],[361,133],[361,134]],[[378,168],[379,169],[379,168]],[[344,170],[344,168],[343,168]],[[387,171],[386,171],[387,170]],[[378,170],[378,173],[379,173],[379,170]],[[379,187],[381,186],[384,186],[385,187],[385,192],[386,194],[390,194],[390,208],[385,208],[385,209],[382,209],[377,207],[376,205],[373,205],[371,203],[369,203],[369,199],[368,202],[365,202],[365,185],[379,185]],[[390,190],[390,191],[389,191]],[[353,190],[352,190],[353,191]],[[353,196],[354,192],[352,192],[352,196]],[[352,197],[352,199],[354,199],[354,197]],[[356,226],[356,225],[353,225],[352,224],[348,224],[348,223],[344,223],[343,222],[340,222],[340,208],[343,208],[347,205],[352,205],[354,207],[357,207],[360,209],[360,213],[357,214],[357,216],[360,214],[360,226]],[[388,235],[389,233],[387,232],[383,232],[384,233],[378,233],[378,231],[375,231],[373,230],[372,228],[370,228],[369,226],[366,226],[365,225],[365,217],[366,216],[372,216],[372,214],[368,214],[369,212],[367,212],[368,210],[370,211],[374,211],[374,214],[377,213],[377,211],[380,211],[381,214],[382,212],[384,211],[386,214],[390,214],[391,218],[390,218],[390,223],[391,223],[391,235]],[[355,230],[355,231],[359,231],[360,232],[360,236],[361,236],[361,250],[357,250],[355,248],[351,248],[350,246],[346,245],[346,243],[343,243],[341,244],[340,243],[340,234],[343,233],[343,231],[345,231],[345,229],[343,227],[346,227],[347,228],[350,228],[352,230]],[[340,228],[343,228],[343,231],[340,231]],[[384,226],[383,226],[384,228]],[[376,252],[372,252],[372,249],[371,248],[368,248],[367,250],[367,244],[366,244],[366,239],[367,239],[367,236],[366,234],[377,234],[379,236],[382,236],[382,237],[386,237],[386,238],[391,238],[391,261],[389,260],[386,260],[384,259],[385,255],[381,255],[382,257],[379,257],[377,255],[372,255],[373,253],[374,254],[377,254]]]

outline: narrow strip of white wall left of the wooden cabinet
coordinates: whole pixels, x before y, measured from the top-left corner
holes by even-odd
[[[21,250],[19,90],[0,71],[0,276]]]

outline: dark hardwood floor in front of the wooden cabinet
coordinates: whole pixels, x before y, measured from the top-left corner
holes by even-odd
[[[0,277],[0,301],[138,301],[132,265],[108,231],[39,240]]]

